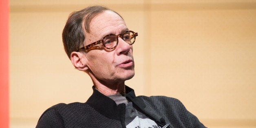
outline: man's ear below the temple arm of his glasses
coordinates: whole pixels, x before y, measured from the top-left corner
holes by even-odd
[[[77,68],[80,71],[87,71],[87,59],[84,55],[84,53],[75,52],[73,51],[70,55],[71,62],[75,68]]]

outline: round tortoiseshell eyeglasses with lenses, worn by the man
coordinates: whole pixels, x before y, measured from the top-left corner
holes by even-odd
[[[82,48],[79,48],[79,49],[88,50],[91,47],[101,43],[104,45],[106,49],[115,49],[115,47],[118,44],[118,37],[120,37],[129,45],[132,45],[135,42],[136,36],[138,36],[138,33],[135,33],[133,31],[125,31],[123,34],[119,34],[119,35],[109,34],[109,35],[106,35],[102,40],[98,40],[96,42],[83,46]],[[77,51],[79,51],[79,49]]]

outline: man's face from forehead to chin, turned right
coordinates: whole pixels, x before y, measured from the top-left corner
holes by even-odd
[[[84,46],[102,40],[108,34],[118,35],[127,30],[124,20],[118,14],[113,11],[104,11],[92,19],[90,33],[86,33]],[[103,82],[113,83],[124,82],[134,76],[131,45],[121,38],[118,38],[118,45],[115,49],[107,50],[102,44],[98,45],[98,49],[85,53],[87,66],[94,77]]]

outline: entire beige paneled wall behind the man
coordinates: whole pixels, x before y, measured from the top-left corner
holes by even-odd
[[[175,97],[210,128],[256,127],[256,0],[10,0],[12,128],[33,128],[57,103],[85,102],[93,85],[62,46],[68,15],[119,12],[138,32],[137,95]]]

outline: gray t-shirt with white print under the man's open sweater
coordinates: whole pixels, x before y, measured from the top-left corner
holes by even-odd
[[[124,103],[126,104],[126,113],[125,113],[125,124],[126,128],[161,128],[157,125],[156,122],[149,119],[146,115],[139,112],[132,106],[132,102],[128,102],[125,96],[121,94],[117,95],[108,95],[113,99],[116,104]]]

